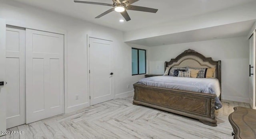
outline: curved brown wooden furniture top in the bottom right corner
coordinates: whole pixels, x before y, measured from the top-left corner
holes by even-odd
[[[233,128],[234,139],[256,139],[256,110],[235,107],[228,116]]]

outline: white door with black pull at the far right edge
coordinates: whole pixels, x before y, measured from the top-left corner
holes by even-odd
[[[249,41],[250,41],[250,66],[252,66],[253,68],[250,67],[250,106],[253,109],[256,109],[256,101],[255,101],[255,89],[256,89],[256,40],[255,40],[255,36],[256,33],[254,31],[253,35],[250,37]]]

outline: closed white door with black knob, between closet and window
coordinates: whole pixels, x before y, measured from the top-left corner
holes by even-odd
[[[112,41],[90,37],[90,105],[114,99]]]

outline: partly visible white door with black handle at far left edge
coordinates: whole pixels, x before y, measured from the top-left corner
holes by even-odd
[[[0,82],[5,82],[5,44],[6,21],[0,18]],[[0,131],[6,131],[6,89],[2,85],[0,85]]]

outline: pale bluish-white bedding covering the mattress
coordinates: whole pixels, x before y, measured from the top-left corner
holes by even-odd
[[[160,88],[216,94],[215,109],[222,108],[222,104],[218,98],[221,92],[220,82],[216,78],[188,78],[163,75],[143,78],[138,83]]]

